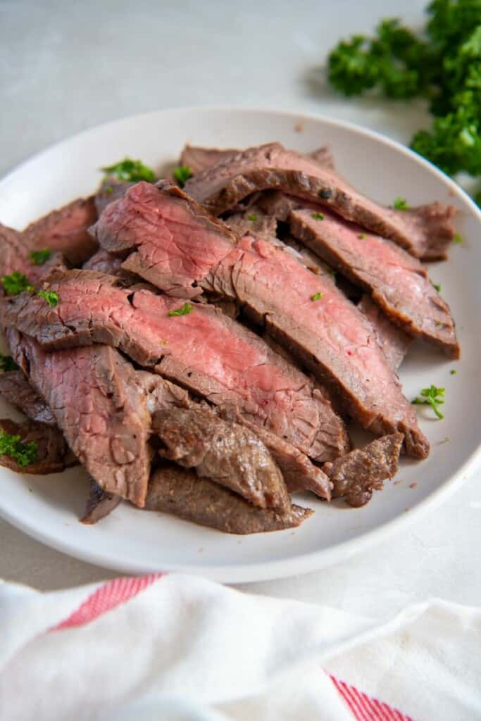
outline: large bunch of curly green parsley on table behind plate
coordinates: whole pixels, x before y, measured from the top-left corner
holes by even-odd
[[[345,95],[428,99],[431,128],[415,133],[412,149],[448,174],[479,176],[481,3],[430,0],[427,14],[419,32],[383,19],[371,37],[343,40],[328,58],[329,80]]]

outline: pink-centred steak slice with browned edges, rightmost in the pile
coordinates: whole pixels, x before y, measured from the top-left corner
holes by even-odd
[[[321,219],[311,208],[293,210],[290,226],[296,238],[367,291],[394,324],[459,358],[449,306],[416,258],[329,211]]]

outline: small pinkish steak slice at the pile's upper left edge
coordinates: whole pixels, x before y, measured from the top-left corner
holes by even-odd
[[[96,220],[94,198],[78,198],[30,224],[23,235],[30,249],[59,251],[70,265],[79,266],[97,249],[87,232]]]

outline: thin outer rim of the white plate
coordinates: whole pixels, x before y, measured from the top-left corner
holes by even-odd
[[[79,133],[62,138],[56,143],[52,143],[49,146],[37,151],[35,154],[29,156],[27,159],[10,169],[0,179],[0,193],[2,187],[6,182],[9,182],[10,178],[17,172],[22,172],[28,164],[40,159],[43,154],[48,153],[54,149],[59,149],[63,145],[71,143],[71,141],[78,140],[89,136],[89,134],[96,133],[102,128],[115,128],[115,125],[129,122],[132,120],[140,120],[144,118],[153,118],[159,115],[169,115],[170,113],[182,112],[185,114],[189,113],[216,113],[216,112],[244,112],[250,115],[281,115],[283,118],[291,118],[294,123],[304,121],[313,121],[324,123],[325,125],[331,125],[334,128],[343,128],[352,133],[356,133],[361,136],[366,136],[372,140],[382,143],[385,146],[389,146],[397,152],[407,156],[412,162],[420,164],[425,167],[429,172],[438,177],[445,185],[452,191],[454,197],[460,198],[467,203],[470,211],[474,213],[475,218],[481,222],[481,209],[478,208],[474,200],[457,185],[454,180],[451,179],[441,169],[433,165],[427,159],[412,151],[407,146],[404,146],[399,141],[394,140],[385,136],[379,131],[373,131],[370,128],[365,128],[363,125],[353,123],[348,120],[336,120],[330,118],[322,113],[312,112],[295,112],[294,110],[281,110],[276,108],[262,108],[262,107],[247,107],[243,105],[200,105],[200,106],[180,106],[180,107],[169,107],[162,108],[160,110],[153,110],[144,113],[137,113],[133,115],[126,115],[123,118],[115,118],[115,120],[107,120],[105,123],[92,126],[92,128],[86,128]],[[389,521],[381,523],[374,529],[364,531],[353,539],[341,541],[340,543],[334,544],[330,547],[319,549],[314,552],[308,552],[301,554],[299,557],[288,557],[285,559],[275,559],[266,562],[246,562],[237,563],[234,566],[230,565],[201,565],[196,564],[195,566],[185,564],[169,564],[163,563],[162,567],[154,565],[142,564],[142,562],[136,562],[133,559],[123,562],[121,559],[114,558],[109,552],[102,552],[100,550],[84,549],[79,548],[74,542],[69,539],[58,535],[50,534],[48,531],[44,531],[38,528],[32,528],[28,523],[23,521],[22,517],[19,517],[16,513],[3,508],[0,500],[0,516],[4,518],[12,526],[19,528],[20,531],[27,534],[37,541],[42,542],[48,547],[52,547],[59,552],[63,552],[71,557],[81,559],[84,562],[88,562],[102,568],[111,569],[120,572],[129,572],[133,574],[142,574],[156,571],[166,572],[182,572],[190,573],[193,575],[201,575],[203,578],[209,578],[211,580],[220,581],[222,583],[253,583],[263,580],[273,580],[276,578],[288,578],[293,575],[299,575],[315,570],[320,570],[322,567],[326,567],[336,562],[340,562],[343,559],[353,557],[370,547],[379,545],[382,539],[386,539],[392,536],[400,528],[404,528],[410,523],[413,523],[415,519],[422,518],[425,513],[429,510],[435,510],[438,505],[443,503],[447,498],[452,495],[461,485],[465,479],[474,472],[475,466],[481,457],[481,438],[480,441],[472,451],[464,463],[459,466],[459,469],[451,474],[451,477],[436,490],[433,490],[427,497],[417,503],[415,506],[400,513],[395,518]]]

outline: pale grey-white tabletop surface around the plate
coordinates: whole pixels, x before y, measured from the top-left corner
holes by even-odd
[[[244,105],[352,120],[407,142],[422,103],[354,102],[319,66],[341,35],[411,0],[0,0],[0,175],[50,143],[107,120],[182,105]],[[0,218],[1,220],[1,218]],[[309,575],[242,588],[383,614],[441,596],[481,601],[479,478],[384,546]],[[354,512],[354,511],[353,511]],[[0,578],[40,589],[112,578],[0,520]]]

